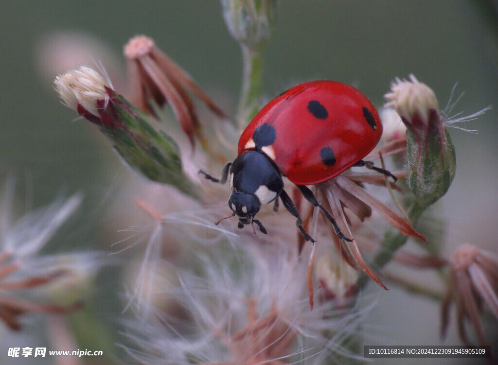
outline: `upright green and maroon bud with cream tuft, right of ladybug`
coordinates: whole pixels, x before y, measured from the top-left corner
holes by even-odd
[[[438,113],[434,92],[415,76],[396,80],[385,94],[385,107],[394,109],[406,125],[406,174],[418,204],[441,198],[455,176],[455,147]]]

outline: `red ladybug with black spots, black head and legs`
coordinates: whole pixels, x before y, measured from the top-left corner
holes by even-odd
[[[285,176],[304,198],[320,208],[339,237],[351,242],[306,185],[327,181],[352,166],[367,166],[396,180],[389,171],[363,160],[381,134],[375,107],[354,87],[324,80],[294,86],[270,101],[249,123],[239,140],[239,154],[234,162],[225,165],[221,179],[199,171],[214,182],[224,184],[230,180],[228,205],[233,213],[216,224],[237,215],[239,228],[255,223],[266,234],[254,216],[261,205],[271,202],[276,211],[280,198],[297,218],[296,225],[306,240],[315,242],[302,227],[296,206],[283,190]]]

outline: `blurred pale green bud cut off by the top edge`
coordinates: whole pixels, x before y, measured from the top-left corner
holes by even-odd
[[[276,19],[275,0],[222,0],[223,16],[232,36],[249,48],[261,47]]]

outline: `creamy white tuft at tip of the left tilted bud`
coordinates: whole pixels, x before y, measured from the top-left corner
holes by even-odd
[[[77,111],[80,104],[94,116],[99,117],[97,100],[105,100],[106,104],[109,100],[105,89],[110,87],[109,83],[90,67],[80,66],[64,75],[59,75],[55,78],[54,84],[64,105],[74,111]]]

